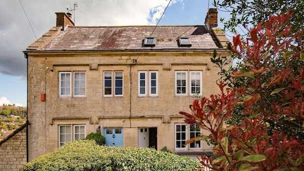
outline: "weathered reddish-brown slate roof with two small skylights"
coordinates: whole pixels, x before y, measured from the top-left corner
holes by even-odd
[[[147,49],[214,49],[223,47],[215,34],[212,33],[214,32],[208,33],[204,25],[157,26],[156,29],[155,26],[71,26],[64,31],[59,31],[39,49],[142,49],[145,37],[156,38],[156,45],[144,47]],[[178,46],[177,39],[179,37],[189,37],[192,46]],[[39,49],[36,48],[36,50]]]

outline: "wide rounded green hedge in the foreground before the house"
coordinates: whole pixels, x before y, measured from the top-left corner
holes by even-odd
[[[26,163],[20,170],[192,170],[199,162],[149,148],[99,146],[77,140]]]

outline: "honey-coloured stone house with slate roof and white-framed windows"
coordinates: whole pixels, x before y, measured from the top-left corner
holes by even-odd
[[[106,136],[107,145],[157,150],[166,146],[179,154],[210,151],[203,141],[183,146],[199,131],[191,131],[178,112],[190,112],[189,105],[197,98],[192,89],[197,88],[200,96],[219,92],[219,69],[210,58],[217,49],[230,59],[224,47],[227,38],[203,25],[154,29],[69,26],[62,30],[57,25],[28,46],[24,53],[29,161],[96,131]],[[152,32],[155,44],[146,47],[145,38]],[[189,38],[191,44],[182,46],[180,37]],[[80,73],[82,78],[77,77]]]

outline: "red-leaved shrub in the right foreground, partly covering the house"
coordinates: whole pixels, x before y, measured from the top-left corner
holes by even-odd
[[[291,16],[290,11],[270,16],[251,29],[245,41],[234,37],[228,48],[243,62],[231,75],[222,72],[230,89],[220,81],[220,94],[195,100],[192,113],[179,112],[186,123],[211,133],[188,144],[204,139],[217,144],[218,158],[201,156],[202,165],[214,170],[304,168],[304,31],[292,32],[287,25]],[[213,60],[219,66],[225,63]],[[239,120],[231,120],[235,111],[241,113]],[[225,124],[228,120],[230,125]]]

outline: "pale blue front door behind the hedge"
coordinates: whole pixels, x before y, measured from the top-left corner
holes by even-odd
[[[104,128],[106,146],[123,147],[123,128]]]

